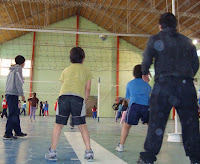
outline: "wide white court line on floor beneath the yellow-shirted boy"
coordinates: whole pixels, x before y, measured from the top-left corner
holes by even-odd
[[[76,155],[82,164],[88,164],[88,161],[84,159],[85,145],[80,132],[64,132],[69,144],[74,149]],[[90,139],[92,150],[94,151],[94,164],[127,164],[119,157],[109,152],[101,145]]]

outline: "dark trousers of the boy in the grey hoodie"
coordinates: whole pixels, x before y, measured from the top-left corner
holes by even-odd
[[[18,108],[18,96],[16,95],[6,95],[6,100],[8,103],[9,115],[6,123],[7,136],[13,136],[12,130],[16,134],[21,133],[20,119],[19,119],[19,108]]]

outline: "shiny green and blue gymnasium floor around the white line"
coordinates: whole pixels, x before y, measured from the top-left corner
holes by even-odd
[[[37,117],[37,122],[29,122],[28,117],[21,116],[22,131],[28,133],[27,138],[18,140],[0,140],[0,164],[46,164],[52,163],[44,159],[51,143],[51,133],[54,126],[55,117]],[[0,137],[4,134],[6,119],[0,119]],[[130,130],[127,142],[125,144],[125,152],[117,152],[116,145],[120,140],[121,127],[119,123],[115,123],[113,118],[101,118],[97,120],[87,118],[88,129],[93,141],[101,145],[103,148],[113,153],[121,160],[128,164],[136,164],[139,152],[143,150],[143,144],[146,136],[147,126],[139,124]],[[58,164],[79,164],[73,147],[68,142],[64,132],[78,132],[78,129],[70,129],[65,126],[58,144]],[[182,143],[167,142],[167,133],[174,132],[174,122],[168,121],[163,146],[156,164],[189,164],[189,160],[185,157]],[[81,138],[80,138],[81,139]],[[82,139],[81,139],[82,140]],[[84,152],[82,152],[84,153]],[[94,152],[98,157],[98,152]],[[105,159],[112,156],[105,153]],[[93,162],[95,164],[95,161]],[[102,163],[103,164],[103,163]],[[115,163],[117,164],[117,163]]]

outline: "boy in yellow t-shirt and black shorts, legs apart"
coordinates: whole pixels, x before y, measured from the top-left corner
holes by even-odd
[[[62,82],[62,86],[56,110],[56,123],[52,133],[51,147],[45,155],[45,158],[48,160],[57,160],[56,147],[61,130],[64,125],[67,125],[70,114],[72,115],[74,125],[77,125],[81,132],[86,147],[85,159],[92,161],[94,158],[85,122],[85,102],[90,94],[93,76],[83,65],[84,59],[85,52],[82,48],[72,48],[70,51],[70,61],[72,64],[61,73],[59,80]]]

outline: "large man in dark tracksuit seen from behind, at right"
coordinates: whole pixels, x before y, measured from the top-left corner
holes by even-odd
[[[161,31],[149,38],[143,54],[143,80],[149,81],[154,59],[155,84],[150,98],[150,118],[138,164],[153,164],[159,153],[171,108],[174,106],[182,125],[186,156],[191,164],[200,164],[200,134],[197,95],[193,77],[199,59],[192,41],[176,31],[176,17],[164,13],[159,19]]]

